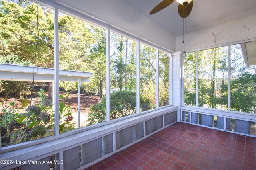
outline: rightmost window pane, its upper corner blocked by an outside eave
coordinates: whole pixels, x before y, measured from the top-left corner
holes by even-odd
[[[231,110],[255,113],[256,67],[246,66],[240,44],[231,45],[230,49]]]

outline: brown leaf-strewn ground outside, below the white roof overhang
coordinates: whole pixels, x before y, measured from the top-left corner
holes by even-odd
[[[60,92],[60,94],[65,94],[64,92]],[[47,92],[45,92],[45,95],[47,96]],[[87,125],[86,120],[88,119],[88,112],[90,111],[90,106],[95,105],[98,102],[101,101],[101,98],[99,96],[86,96],[85,94],[81,94],[81,115],[80,115],[80,120],[81,120],[81,127],[84,127]],[[29,98],[30,100],[30,98]],[[10,102],[15,102],[17,104],[17,107],[20,107],[20,112],[23,112],[26,110],[26,107],[22,107],[22,103],[20,102],[19,99],[17,98],[9,98],[5,102],[4,106],[4,99],[0,98],[0,113],[2,112],[2,109],[11,107]],[[32,105],[36,104],[39,102],[39,96],[36,96],[35,98],[32,98]],[[74,119],[72,122],[76,122],[75,127],[78,128],[78,94],[69,94],[68,98],[65,101],[66,105],[70,105],[72,109],[74,110],[74,113],[72,114]]]

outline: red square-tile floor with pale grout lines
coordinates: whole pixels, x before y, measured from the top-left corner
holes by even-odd
[[[175,123],[86,170],[255,170],[256,138]]]

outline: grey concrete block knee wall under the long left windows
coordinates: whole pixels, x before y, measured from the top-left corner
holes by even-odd
[[[74,146],[73,148],[64,150],[62,152],[64,164],[56,165],[55,169],[75,170],[78,168],[86,168],[86,166],[90,163],[95,163],[102,159],[102,156],[106,157],[108,154],[111,155],[115,152],[115,150],[121,150],[122,148],[125,148],[125,146],[127,147],[127,145],[131,145],[139,139],[146,137],[144,136],[144,133],[146,135],[150,135],[151,133],[163,128],[166,125],[175,123],[176,121],[177,111],[173,111],[171,113],[165,113],[152,119],[145,120],[144,122],[142,121],[135,125],[125,127],[121,130],[113,131],[110,134],[86,142],[82,145]],[[113,145],[116,147],[115,149]],[[41,160],[50,160],[50,158],[51,156],[48,156]],[[59,154],[55,154],[55,156],[52,158],[53,160],[55,159],[59,161],[61,159]],[[50,169],[49,165],[42,164],[37,166],[26,164],[20,167],[21,169],[26,170]]]

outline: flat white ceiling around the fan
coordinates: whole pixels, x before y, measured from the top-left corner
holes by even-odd
[[[178,2],[173,2],[156,14],[149,12],[162,0],[120,0],[154,21],[175,36],[183,34],[183,20],[178,14]],[[194,0],[186,18],[186,33],[256,15],[256,0]],[[256,22],[256,21],[255,21]]]

